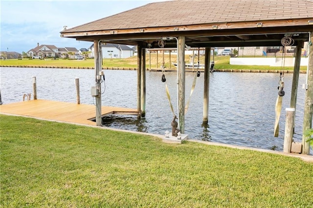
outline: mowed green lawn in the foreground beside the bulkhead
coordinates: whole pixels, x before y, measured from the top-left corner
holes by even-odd
[[[300,159],[0,115],[1,207],[313,207]]]

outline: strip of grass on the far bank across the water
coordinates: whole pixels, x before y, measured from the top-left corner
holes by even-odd
[[[229,56],[216,56],[215,61],[215,69],[257,69],[257,70],[281,70],[281,67],[277,66],[257,66],[257,65],[230,65],[229,64]],[[211,58],[212,59],[212,58]],[[171,62],[176,62],[176,55],[171,55]],[[175,68],[174,65],[170,66],[169,55],[164,55],[164,62],[167,68]],[[190,62],[189,55],[186,55],[185,62]],[[198,62],[196,58],[195,62]],[[156,64],[158,63],[158,64]],[[204,63],[204,56],[200,57],[200,63]],[[160,68],[162,64],[162,55],[158,55],[156,58],[156,54],[151,54],[151,68],[156,69]],[[45,59],[45,60],[29,60],[29,59],[13,59],[13,60],[0,60],[0,65],[8,65],[8,66],[54,66],[54,67],[94,67],[94,60],[65,60],[65,59]],[[137,68],[137,57],[130,57],[127,59],[104,59],[103,67],[108,68]],[[146,67],[150,68],[150,56],[146,55]],[[285,70],[293,70],[293,67],[285,67]],[[300,66],[300,70],[306,71],[306,66]]]

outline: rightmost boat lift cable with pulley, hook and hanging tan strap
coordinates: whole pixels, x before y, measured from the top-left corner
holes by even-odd
[[[274,137],[278,137],[279,134],[279,118],[282,110],[283,96],[285,95],[284,91],[284,71],[285,71],[285,59],[286,59],[286,46],[291,46],[294,43],[294,40],[286,36],[282,38],[281,43],[283,45],[283,56],[282,56],[282,64],[281,64],[281,72],[280,79],[278,82],[278,97],[275,104],[275,125],[274,125]]]

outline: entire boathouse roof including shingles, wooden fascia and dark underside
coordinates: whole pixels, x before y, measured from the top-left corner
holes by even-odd
[[[157,47],[149,38],[185,36],[186,44],[207,47],[274,46],[296,34],[297,45],[308,41],[312,21],[313,0],[169,0],[69,28],[61,37]]]

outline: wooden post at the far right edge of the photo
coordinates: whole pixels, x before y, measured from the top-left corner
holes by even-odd
[[[313,32],[312,32],[313,33]],[[311,33],[311,42],[313,37]],[[312,116],[313,116],[313,45],[310,46],[309,54],[309,66],[308,66],[308,89],[305,93],[304,102],[304,116],[303,116],[303,132],[312,128]],[[302,154],[310,154],[310,143],[306,142],[309,139],[307,136],[302,136]]]

